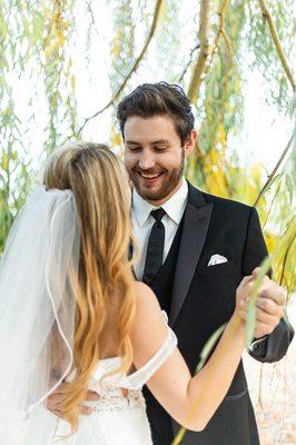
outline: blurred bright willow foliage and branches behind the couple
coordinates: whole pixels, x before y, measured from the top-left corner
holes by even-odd
[[[118,101],[138,83],[166,80],[184,87],[196,115],[187,177],[256,205],[275,278],[290,297],[293,3],[1,0],[0,251],[48,154],[77,138],[108,141],[120,154]]]

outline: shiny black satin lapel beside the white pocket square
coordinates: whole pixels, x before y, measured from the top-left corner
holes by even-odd
[[[201,202],[201,207],[196,207],[196,205],[200,206]],[[184,216],[182,235],[172,287],[169,313],[170,326],[175,324],[189,290],[206,240],[211,207],[211,204],[206,205],[200,191],[194,189],[191,186],[189,187],[189,200]]]

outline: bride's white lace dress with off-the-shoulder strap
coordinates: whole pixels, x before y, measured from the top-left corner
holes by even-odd
[[[166,313],[164,313],[167,323]],[[61,445],[152,445],[150,426],[146,414],[142,386],[162,365],[177,346],[177,338],[168,327],[168,337],[156,355],[146,365],[130,375],[115,374],[101,379],[103,375],[120,365],[120,357],[102,359],[89,384],[100,399],[88,402],[92,414],[79,417],[78,432],[69,434],[68,423],[57,419],[56,431],[49,443]],[[128,389],[127,395],[121,388]]]

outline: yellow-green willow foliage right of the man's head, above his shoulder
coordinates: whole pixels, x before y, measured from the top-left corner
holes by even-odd
[[[219,1],[216,11],[213,9],[213,13],[217,13],[223,4],[227,6],[225,31],[228,40],[218,39],[218,48],[201,83],[200,99],[196,103],[201,121],[198,149],[187,165],[187,175],[197,186],[214,195],[249,205],[257,201],[264,187],[264,176],[269,172],[263,165],[240,167],[236,151],[229,149],[229,134],[239,130],[243,123],[241,89],[246,60],[250,61],[250,67],[259,68],[268,79],[270,96],[266,97],[267,100],[276,101],[284,110],[290,102],[285,72],[256,3],[229,2],[227,6],[227,2]],[[290,8],[290,2],[273,2],[272,6],[275,24],[279,28],[278,33],[287,53],[292,47]],[[214,23],[216,33],[220,26],[218,20]],[[283,141],[283,149],[284,144],[286,141]],[[236,150],[238,152],[239,147]],[[280,165],[258,202],[268,250],[277,251],[273,257],[274,276],[283,284],[289,283],[290,291],[296,287],[295,274],[293,278],[295,256],[290,255],[294,241],[287,236],[286,228],[295,224],[295,152],[294,149],[286,156],[288,160],[285,167]]]

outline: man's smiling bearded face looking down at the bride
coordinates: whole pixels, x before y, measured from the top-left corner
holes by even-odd
[[[181,147],[168,115],[131,116],[125,123],[125,164],[138,194],[160,206],[179,188],[184,159],[191,151]]]

